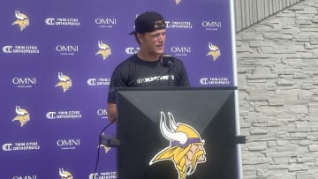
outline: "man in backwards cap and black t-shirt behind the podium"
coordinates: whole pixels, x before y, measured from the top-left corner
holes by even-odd
[[[166,23],[155,11],[146,11],[135,19],[132,33],[140,51],[119,63],[112,72],[107,112],[110,122],[116,119],[117,87],[190,86],[184,63],[163,53]]]

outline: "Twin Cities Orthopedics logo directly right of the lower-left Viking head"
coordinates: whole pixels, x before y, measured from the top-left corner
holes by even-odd
[[[79,110],[49,111],[45,116],[47,119],[80,119],[82,117]]]

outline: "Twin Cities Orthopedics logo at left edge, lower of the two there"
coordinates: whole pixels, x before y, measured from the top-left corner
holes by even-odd
[[[15,142],[6,143],[2,145],[2,150],[5,152],[12,151],[35,151],[40,150],[40,145],[38,142]]]

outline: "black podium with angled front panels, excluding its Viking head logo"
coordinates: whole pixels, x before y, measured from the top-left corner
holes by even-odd
[[[178,174],[173,160],[149,165],[156,154],[174,144],[163,135],[163,125],[160,126],[161,114],[165,114],[167,130],[173,131],[168,113],[173,114],[176,123],[197,131],[201,137],[199,142],[204,141],[206,160],[198,163],[193,174],[186,175],[186,179],[239,178],[234,90],[234,87],[118,89],[118,178],[145,178],[156,164],[166,165],[163,172],[170,170]]]

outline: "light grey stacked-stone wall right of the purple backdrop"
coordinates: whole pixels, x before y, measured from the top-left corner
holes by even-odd
[[[244,178],[318,178],[318,0],[236,38]]]

